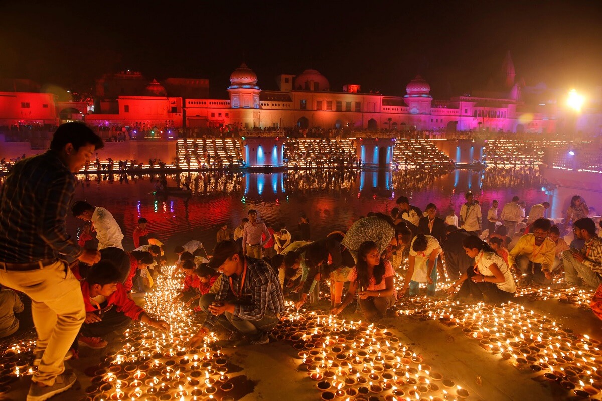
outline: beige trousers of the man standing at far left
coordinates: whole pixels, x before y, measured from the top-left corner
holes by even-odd
[[[63,358],[85,320],[79,281],[65,263],[57,261],[26,272],[4,270],[0,264],[0,283],[31,298],[38,335],[36,351],[44,351],[32,381],[54,385],[65,370]]]

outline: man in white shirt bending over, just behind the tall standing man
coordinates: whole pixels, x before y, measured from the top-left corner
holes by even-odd
[[[85,201],[75,202],[71,207],[71,211],[73,217],[84,220],[84,222],[92,222],[92,229],[96,231],[96,239],[98,240],[98,250],[105,248],[123,249],[123,233],[110,211],[99,206],[94,207]]]

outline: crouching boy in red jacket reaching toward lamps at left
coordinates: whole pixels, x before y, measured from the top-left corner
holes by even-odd
[[[167,322],[148,316],[144,309],[128,298],[120,280],[119,270],[112,263],[101,261],[81,282],[85,321],[79,331],[79,346],[104,348],[107,341],[102,340],[101,336],[124,330],[132,320],[140,320],[157,329],[169,330]]]

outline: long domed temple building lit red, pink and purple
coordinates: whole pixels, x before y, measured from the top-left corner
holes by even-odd
[[[509,52],[483,90],[448,100],[433,99],[429,82],[420,75],[406,85],[403,96],[364,93],[358,83],[337,91],[315,69],[279,75],[278,90],[261,90],[258,76],[243,63],[229,81],[228,98],[211,99],[208,79],[158,82],[147,80],[140,72],[105,74],[96,81],[94,102],[89,107],[58,102],[45,93],[4,88],[7,92],[0,92],[0,125],[84,120],[90,125],[135,127],[602,132],[600,102],[592,102],[594,108],[580,116],[569,114],[558,100],[561,93],[544,84],[527,87],[517,79]]]

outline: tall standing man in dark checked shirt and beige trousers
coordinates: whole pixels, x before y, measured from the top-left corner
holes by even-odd
[[[0,191],[0,282],[31,298],[38,340],[27,401],[44,401],[75,383],[64,373],[73,340],[85,319],[79,281],[67,255],[86,264],[101,258],[81,249],[67,234],[65,220],[75,191],[75,176],[102,139],[81,123],[58,127],[50,150],[16,163]]]

